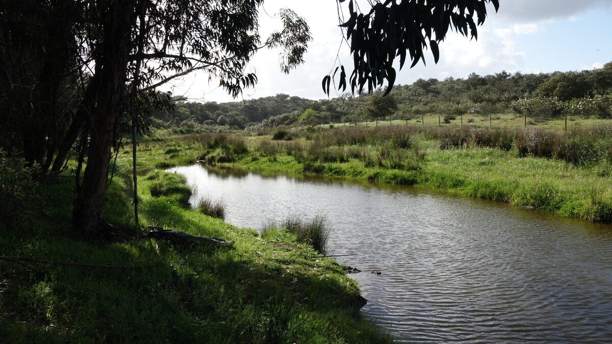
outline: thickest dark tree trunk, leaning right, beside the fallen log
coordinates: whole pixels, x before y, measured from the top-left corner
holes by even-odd
[[[85,236],[95,234],[108,179],[108,163],[121,111],[130,53],[130,23],[135,1],[114,1],[103,21],[104,40],[95,54],[95,105],[83,185],[73,203],[72,225]]]

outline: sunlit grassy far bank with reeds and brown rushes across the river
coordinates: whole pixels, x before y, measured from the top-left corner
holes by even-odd
[[[143,144],[142,165],[206,160],[276,173],[415,185],[612,221],[612,128],[433,127],[204,134]],[[127,155],[125,155],[127,159]]]

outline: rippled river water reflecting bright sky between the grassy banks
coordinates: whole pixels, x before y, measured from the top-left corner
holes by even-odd
[[[612,340],[612,227],[410,187],[173,168],[261,228],[327,215],[363,311],[411,342]],[[381,271],[381,275],[370,274]]]

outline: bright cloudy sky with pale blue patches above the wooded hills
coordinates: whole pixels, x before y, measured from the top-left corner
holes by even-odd
[[[600,68],[612,61],[611,0],[500,0],[499,12],[488,6],[488,17],[478,28],[478,40],[470,40],[449,32],[439,44],[440,59],[433,62],[425,52],[427,65],[419,62],[409,69],[396,70],[395,84],[411,84],[419,78],[466,78],[472,72],[479,75],[499,73],[550,73],[554,71]],[[345,13],[346,4],[341,4]],[[255,72],[258,84],[245,89],[233,99],[209,83],[204,72],[188,75],[166,85],[163,91],[184,95],[192,102],[231,102],[256,99],[279,93],[308,99],[323,99],[321,80],[338,61],[352,65],[349,47],[341,45],[335,0],[291,1],[266,0],[259,10],[259,33],[265,40],[271,32],[282,29],[278,10],[283,7],[304,17],[313,36],[304,57],[304,64],[285,75],[278,64],[277,50],[261,50],[255,54],[246,72]],[[364,10],[366,7],[362,7]],[[337,97],[341,92],[330,92]]]

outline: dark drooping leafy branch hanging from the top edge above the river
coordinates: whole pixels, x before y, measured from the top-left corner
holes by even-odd
[[[338,89],[345,91],[350,83],[351,91],[361,94],[366,86],[373,92],[387,81],[384,95],[389,94],[395,83],[395,58],[400,58],[400,70],[408,58],[412,68],[419,60],[425,63],[424,50],[429,47],[438,63],[438,43],[449,29],[478,38],[476,26],[485,22],[488,2],[498,10],[499,0],[385,0],[361,13],[354,0],[349,0],[349,18],[340,26],[346,29],[353,72],[347,81],[340,65],[333,75],[323,78],[323,91],[329,95],[330,82],[339,69]]]

